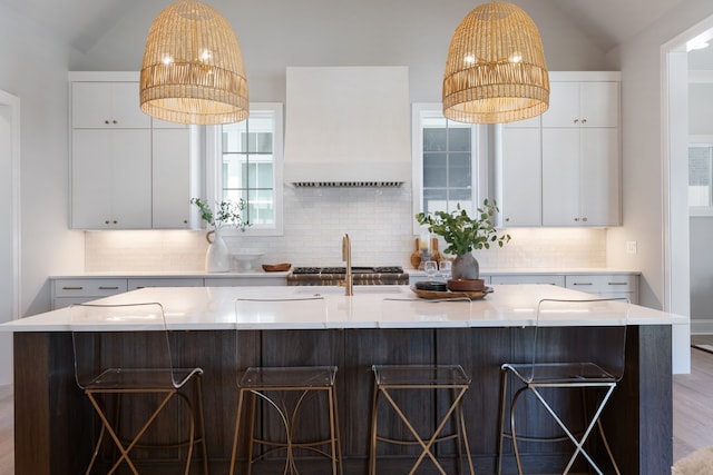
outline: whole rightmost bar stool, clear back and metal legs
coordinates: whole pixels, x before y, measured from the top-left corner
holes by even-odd
[[[524,472],[519,442],[572,443],[575,449],[563,474],[568,474],[576,458],[582,455],[592,469],[603,475],[605,472],[585,448],[585,443],[595,427],[598,428],[602,444],[609,458],[611,468],[607,467],[606,473],[621,474],[599,417],[624,375],[628,307],[627,299],[616,298],[543,299],[538,303],[531,355],[522,363],[505,363],[501,366],[498,474],[502,472],[504,443],[507,438],[512,443],[515,462],[520,475]],[[558,327],[563,325],[563,318],[569,317],[595,321],[590,324],[594,327],[584,327],[579,336],[568,335],[565,338]],[[510,379],[516,384],[512,394],[508,393]],[[585,413],[582,431],[568,427],[574,424],[565,417],[567,414],[558,414],[558,407],[554,404],[556,400],[561,404],[566,396],[564,393],[573,389],[582,393]],[[592,393],[597,396],[596,407],[587,415],[585,395]],[[543,434],[546,424],[535,419],[530,425],[536,426],[539,434],[522,434],[528,432],[524,429],[517,434],[516,408],[520,407],[518,403],[526,404],[527,400],[521,397],[526,394],[533,395],[537,406],[545,409],[543,414],[551,417],[558,433],[553,431]],[[506,428],[508,405],[509,427]],[[533,408],[522,413],[530,420],[537,416]]]

